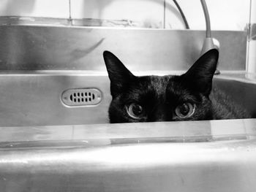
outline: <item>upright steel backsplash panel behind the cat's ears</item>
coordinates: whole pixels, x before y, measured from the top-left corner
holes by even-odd
[[[0,26],[1,70],[105,71],[110,50],[132,71],[187,70],[199,57],[205,31]],[[245,70],[246,31],[213,31],[221,44],[219,70]]]

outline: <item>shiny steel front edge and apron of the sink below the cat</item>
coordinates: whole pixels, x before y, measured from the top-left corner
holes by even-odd
[[[254,192],[255,125],[214,120],[0,128],[0,191]]]

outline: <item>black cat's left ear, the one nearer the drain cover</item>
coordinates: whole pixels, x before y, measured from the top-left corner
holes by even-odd
[[[122,64],[122,62],[109,51],[103,53],[105,65],[110,78],[110,91],[112,96],[116,96],[127,88],[129,82],[135,79],[135,76]]]

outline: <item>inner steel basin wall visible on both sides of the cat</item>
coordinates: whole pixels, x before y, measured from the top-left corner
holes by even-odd
[[[256,117],[256,78],[244,82],[245,75],[222,73],[214,84]],[[108,123],[111,96],[107,72],[4,72],[0,82],[0,126]],[[73,88],[97,88],[102,100],[94,107],[65,107],[61,94]]]

